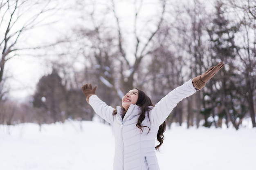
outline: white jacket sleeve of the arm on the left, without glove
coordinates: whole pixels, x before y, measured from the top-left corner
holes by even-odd
[[[112,115],[114,108],[108,106],[103,102],[97,95],[91,95],[89,97],[89,104],[92,106],[93,110],[102,119],[106,120],[108,123],[113,124],[114,117]]]

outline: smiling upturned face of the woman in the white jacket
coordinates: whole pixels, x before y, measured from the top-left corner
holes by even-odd
[[[122,106],[128,110],[130,104],[136,104],[139,96],[137,89],[132,89],[122,98]]]

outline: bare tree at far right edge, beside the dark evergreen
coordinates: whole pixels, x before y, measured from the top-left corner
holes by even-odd
[[[245,99],[247,99],[249,115],[252,119],[252,126],[256,127],[255,122],[255,95],[256,95],[256,2],[255,0],[230,0],[229,7],[234,9],[236,16],[234,22],[240,26],[237,36],[237,56],[239,64],[237,69],[241,71],[245,82]]]

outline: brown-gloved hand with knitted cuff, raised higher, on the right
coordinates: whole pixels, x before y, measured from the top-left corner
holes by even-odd
[[[224,66],[223,62],[217,64],[217,66],[212,66],[202,75],[199,75],[192,79],[193,86],[198,88],[199,90],[202,89],[205,84],[211,79],[222,67]]]

